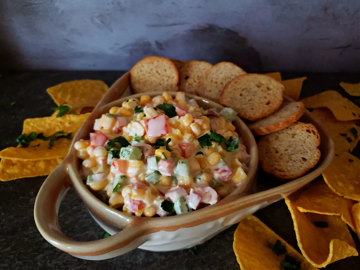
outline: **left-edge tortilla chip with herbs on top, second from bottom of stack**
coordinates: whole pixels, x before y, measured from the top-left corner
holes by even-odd
[[[22,147],[9,147],[0,151],[0,158],[4,159],[17,159],[17,160],[39,160],[49,158],[64,158],[66,157],[71,140],[59,139],[54,142],[54,146],[49,149],[49,141],[37,139],[31,142],[27,148]],[[36,144],[37,143],[37,144]]]

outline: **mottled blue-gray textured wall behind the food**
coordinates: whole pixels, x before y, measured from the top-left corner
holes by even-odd
[[[0,68],[119,70],[162,55],[359,71],[359,32],[359,0],[0,0]]]

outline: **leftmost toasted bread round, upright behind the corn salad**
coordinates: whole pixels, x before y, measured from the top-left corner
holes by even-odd
[[[130,80],[135,93],[177,91],[179,73],[171,60],[150,56],[132,67]]]

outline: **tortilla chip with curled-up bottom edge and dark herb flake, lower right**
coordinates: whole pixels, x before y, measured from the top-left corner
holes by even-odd
[[[285,198],[285,203],[294,222],[298,246],[312,265],[325,267],[358,255],[350,231],[339,216],[302,213],[289,198]]]

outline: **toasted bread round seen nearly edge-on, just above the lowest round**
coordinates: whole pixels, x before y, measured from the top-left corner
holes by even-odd
[[[302,102],[283,103],[276,113],[249,125],[256,135],[265,135],[282,130],[296,122],[305,112]]]

